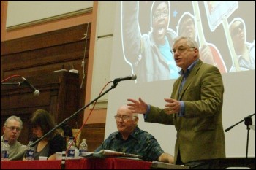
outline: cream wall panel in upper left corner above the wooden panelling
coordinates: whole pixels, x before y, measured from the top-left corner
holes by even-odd
[[[93,1],[8,1],[7,29],[80,14],[92,6]]]

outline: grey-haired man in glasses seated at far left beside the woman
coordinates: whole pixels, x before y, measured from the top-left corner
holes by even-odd
[[[26,152],[26,145],[18,142],[22,125],[22,120],[20,120],[20,117],[17,116],[9,117],[4,123],[4,135],[1,136],[1,147],[4,143],[4,139],[8,140],[10,145],[9,160],[23,160],[23,155]]]

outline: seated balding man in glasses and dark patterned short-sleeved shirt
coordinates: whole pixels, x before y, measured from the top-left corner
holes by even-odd
[[[132,113],[127,106],[121,106],[115,115],[118,131],[94,151],[114,150],[142,156],[144,161],[173,163],[173,156],[164,152],[157,139],[138,127],[138,114]]]

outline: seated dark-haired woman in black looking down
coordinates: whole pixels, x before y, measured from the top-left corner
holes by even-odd
[[[53,116],[43,109],[34,112],[30,121],[33,134],[37,136],[37,139],[55,127]],[[53,131],[34,146],[34,160],[39,160],[39,156],[47,156],[48,160],[56,160],[56,152],[63,150],[66,150],[66,140],[57,131]]]

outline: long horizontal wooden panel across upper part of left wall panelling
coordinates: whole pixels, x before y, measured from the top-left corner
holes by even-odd
[[[80,66],[83,60],[83,48],[84,42],[74,42],[2,56],[3,76],[8,77],[18,73],[23,77],[31,77],[49,74],[62,68],[72,69],[72,66],[81,73],[83,71]],[[87,50],[86,56],[88,55]]]

